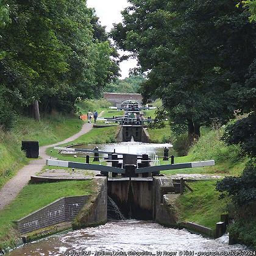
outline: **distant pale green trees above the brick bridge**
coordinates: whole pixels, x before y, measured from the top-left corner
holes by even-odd
[[[107,93],[139,93],[140,85],[146,79],[142,75],[130,76],[125,79],[116,79],[110,84],[107,84],[105,91]]]

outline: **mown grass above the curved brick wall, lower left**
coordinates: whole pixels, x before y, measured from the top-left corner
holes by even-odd
[[[0,211],[0,247],[13,239],[13,223],[35,210],[65,196],[93,193],[91,180],[30,184],[4,210]]]

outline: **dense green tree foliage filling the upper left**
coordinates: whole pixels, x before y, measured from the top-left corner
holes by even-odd
[[[118,74],[116,50],[85,0],[1,0],[0,13],[0,91],[7,106],[26,110],[39,101],[43,111],[69,112],[77,98],[98,96]]]

